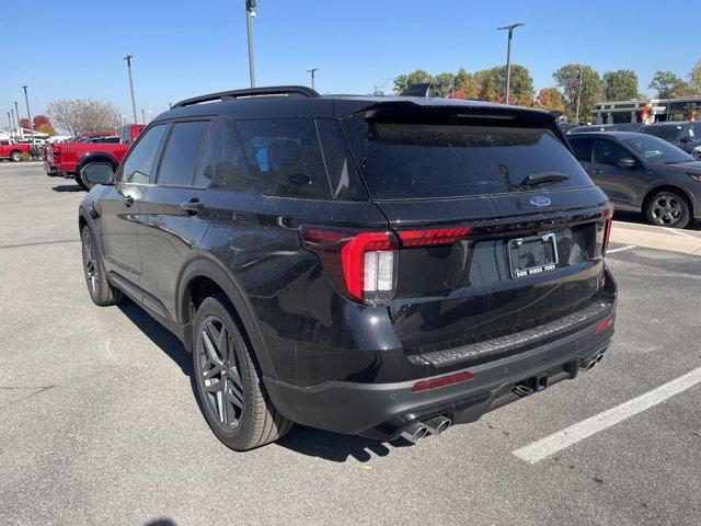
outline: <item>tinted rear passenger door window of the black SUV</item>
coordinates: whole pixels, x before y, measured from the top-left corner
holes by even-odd
[[[158,184],[189,186],[205,141],[209,121],[175,123],[163,150]]]

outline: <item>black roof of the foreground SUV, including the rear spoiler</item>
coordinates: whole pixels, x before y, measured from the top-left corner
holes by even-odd
[[[290,87],[295,88],[295,87]],[[302,87],[299,87],[302,89]],[[271,88],[274,90],[276,88]],[[309,90],[308,88],[303,88]],[[241,90],[243,91],[243,90]],[[241,93],[241,92],[232,92]],[[438,99],[422,96],[377,96],[353,94],[329,94],[319,96],[261,95],[228,99],[226,92],[219,99],[196,98],[183,101],[173,108],[158,115],[153,122],[170,118],[187,118],[195,116],[228,115],[234,118],[329,118],[347,116],[376,108],[413,108],[416,111],[443,110],[458,116],[480,116],[497,114],[512,115],[518,121],[551,124],[554,116],[548,112],[524,108],[506,104],[461,99]],[[198,100],[207,102],[197,102]]]

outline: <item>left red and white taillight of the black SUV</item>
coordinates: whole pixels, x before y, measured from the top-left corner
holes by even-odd
[[[388,304],[397,291],[397,249],[388,231],[300,229],[304,248],[319,254],[338,290],[369,305]]]

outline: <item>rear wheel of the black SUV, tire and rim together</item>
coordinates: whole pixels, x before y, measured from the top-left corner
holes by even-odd
[[[273,405],[251,343],[230,309],[221,294],[206,298],[197,309],[193,374],[207,424],[227,447],[243,451],[280,438],[292,422]]]

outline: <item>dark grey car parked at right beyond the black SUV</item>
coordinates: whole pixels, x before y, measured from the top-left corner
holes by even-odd
[[[568,135],[575,157],[617,209],[642,211],[652,225],[685,228],[701,219],[701,162],[652,135]]]

